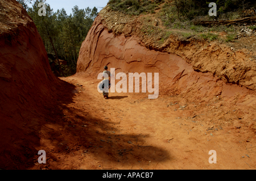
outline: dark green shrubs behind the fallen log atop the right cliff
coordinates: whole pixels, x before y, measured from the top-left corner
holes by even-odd
[[[159,14],[167,27],[179,21],[186,22],[193,19],[207,16],[209,19],[236,19],[239,17],[238,12],[245,9],[255,9],[255,0],[217,0],[217,17],[209,16],[210,7],[207,0],[174,0],[166,1]],[[239,11],[238,11],[239,10]]]

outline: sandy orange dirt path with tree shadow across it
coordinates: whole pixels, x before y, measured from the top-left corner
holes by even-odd
[[[59,100],[56,123],[42,127],[38,150],[46,150],[47,163],[35,158],[31,169],[256,168],[254,125],[243,121],[252,119],[253,107],[225,104],[218,96],[201,103],[110,92],[105,99],[97,91],[100,80],[61,79],[76,90],[72,102]],[[209,163],[210,150],[216,164]]]

